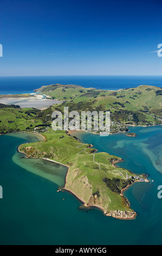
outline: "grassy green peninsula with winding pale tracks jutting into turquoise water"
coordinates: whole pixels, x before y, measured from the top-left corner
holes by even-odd
[[[123,161],[108,153],[95,153],[89,144],[79,142],[65,131],[42,133],[45,141],[20,145],[27,157],[40,157],[68,166],[64,188],[79,198],[85,206],[97,206],[108,216],[133,218],[135,212],[122,197],[121,190],[134,181],[134,174],[117,168]]]

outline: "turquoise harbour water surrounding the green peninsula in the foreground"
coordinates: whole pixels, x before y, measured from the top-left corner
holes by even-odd
[[[22,159],[23,154],[17,153],[19,144],[37,141],[37,137],[29,133],[0,136],[0,244],[161,245],[162,199],[157,197],[157,187],[162,185],[162,126],[130,130],[137,137],[127,137],[126,133],[108,137],[76,134],[99,151],[124,158],[119,166],[137,174],[147,173],[148,179],[154,180],[136,183],[125,191],[138,213],[131,221],[106,217],[95,208],[81,210],[81,203],[72,194],[56,192],[66,169],[61,168],[60,174],[60,167],[54,163]],[[42,172],[48,180],[37,175]]]

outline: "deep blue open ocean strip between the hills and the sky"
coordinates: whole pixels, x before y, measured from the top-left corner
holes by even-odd
[[[31,93],[49,84],[77,84],[105,90],[137,87],[142,84],[162,87],[162,76],[10,76],[0,77],[0,94]]]

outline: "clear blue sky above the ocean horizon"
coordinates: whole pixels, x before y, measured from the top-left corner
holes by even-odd
[[[161,11],[161,0],[1,0],[0,76],[162,75]]]

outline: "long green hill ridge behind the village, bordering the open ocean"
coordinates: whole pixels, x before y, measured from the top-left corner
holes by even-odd
[[[69,84],[65,86],[53,84],[43,86],[35,91],[73,103],[90,102],[93,108],[100,107],[105,110],[115,109],[120,111],[149,112],[162,116],[162,89],[154,86],[139,86],[136,88],[109,91],[83,88]],[[85,106],[82,106],[82,108],[85,108]]]

